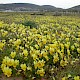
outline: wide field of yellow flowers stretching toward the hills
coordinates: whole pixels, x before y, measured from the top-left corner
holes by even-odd
[[[80,80],[80,18],[0,13],[0,74]]]

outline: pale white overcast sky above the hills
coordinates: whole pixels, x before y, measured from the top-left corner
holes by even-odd
[[[80,5],[80,0],[0,0],[0,3],[33,3],[38,5],[53,5],[60,8],[70,8]]]

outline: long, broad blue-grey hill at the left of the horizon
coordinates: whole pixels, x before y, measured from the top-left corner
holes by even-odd
[[[12,10],[12,11],[30,11],[38,10],[39,6],[29,3],[12,3],[12,4],[0,4],[0,10]]]

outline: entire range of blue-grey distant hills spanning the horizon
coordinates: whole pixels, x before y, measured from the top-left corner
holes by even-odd
[[[0,4],[0,11],[80,11],[80,5],[69,9],[56,8],[51,5],[36,5],[31,3]]]

